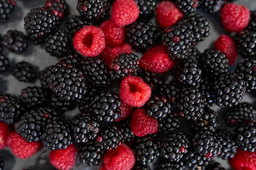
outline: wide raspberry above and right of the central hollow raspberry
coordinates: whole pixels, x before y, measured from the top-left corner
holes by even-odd
[[[163,45],[158,45],[143,54],[139,65],[146,71],[163,73],[173,67],[174,60],[168,57]]]

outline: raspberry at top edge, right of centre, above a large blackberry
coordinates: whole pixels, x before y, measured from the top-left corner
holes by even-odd
[[[162,28],[171,27],[182,19],[182,11],[171,1],[162,1],[157,6],[157,22]]]

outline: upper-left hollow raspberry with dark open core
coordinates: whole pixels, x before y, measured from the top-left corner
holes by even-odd
[[[104,32],[95,26],[85,26],[76,32],[73,45],[85,57],[96,57],[106,46]]]

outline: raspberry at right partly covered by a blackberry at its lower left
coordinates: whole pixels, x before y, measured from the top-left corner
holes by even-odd
[[[229,59],[229,65],[232,65],[236,62],[236,59],[238,57],[236,43],[229,36],[223,34],[218,37],[218,40],[215,42],[214,45],[214,50],[219,50],[224,53],[227,59]]]

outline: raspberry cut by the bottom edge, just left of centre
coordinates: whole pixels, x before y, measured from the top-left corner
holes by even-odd
[[[123,143],[116,149],[108,150],[103,163],[107,170],[131,170],[135,163],[134,153]]]

